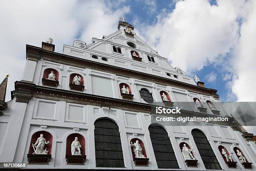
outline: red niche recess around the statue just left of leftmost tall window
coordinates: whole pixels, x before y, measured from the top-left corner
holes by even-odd
[[[82,148],[80,148],[81,150],[81,154],[85,155],[85,139],[84,137],[79,134],[79,133],[72,133],[67,137],[67,141],[66,141],[66,155],[71,155],[71,144],[74,141],[74,138],[77,137],[79,143],[81,144]]]

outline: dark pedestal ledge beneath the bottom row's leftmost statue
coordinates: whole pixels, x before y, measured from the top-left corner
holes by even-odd
[[[28,164],[49,164],[51,154],[27,154]]]

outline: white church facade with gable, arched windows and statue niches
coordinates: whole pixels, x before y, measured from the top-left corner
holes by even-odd
[[[26,66],[5,102],[0,84],[0,169],[256,169],[256,144],[239,124],[152,123],[151,104],[191,102],[197,116],[232,118],[217,90],[173,68],[119,21],[92,43],[76,40],[54,52],[26,45]],[[172,116],[172,114],[170,114]]]

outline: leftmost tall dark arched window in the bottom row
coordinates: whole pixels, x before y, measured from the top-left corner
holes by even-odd
[[[125,167],[117,124],[101,118],[94,126],[96,167]]]

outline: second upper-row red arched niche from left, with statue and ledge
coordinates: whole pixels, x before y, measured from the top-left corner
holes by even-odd
[[[80,81],[79,81],[80,80]],[[78,73],[72,73],[69,76],[69,88],[75,91],[84,91],[84,78]]]

